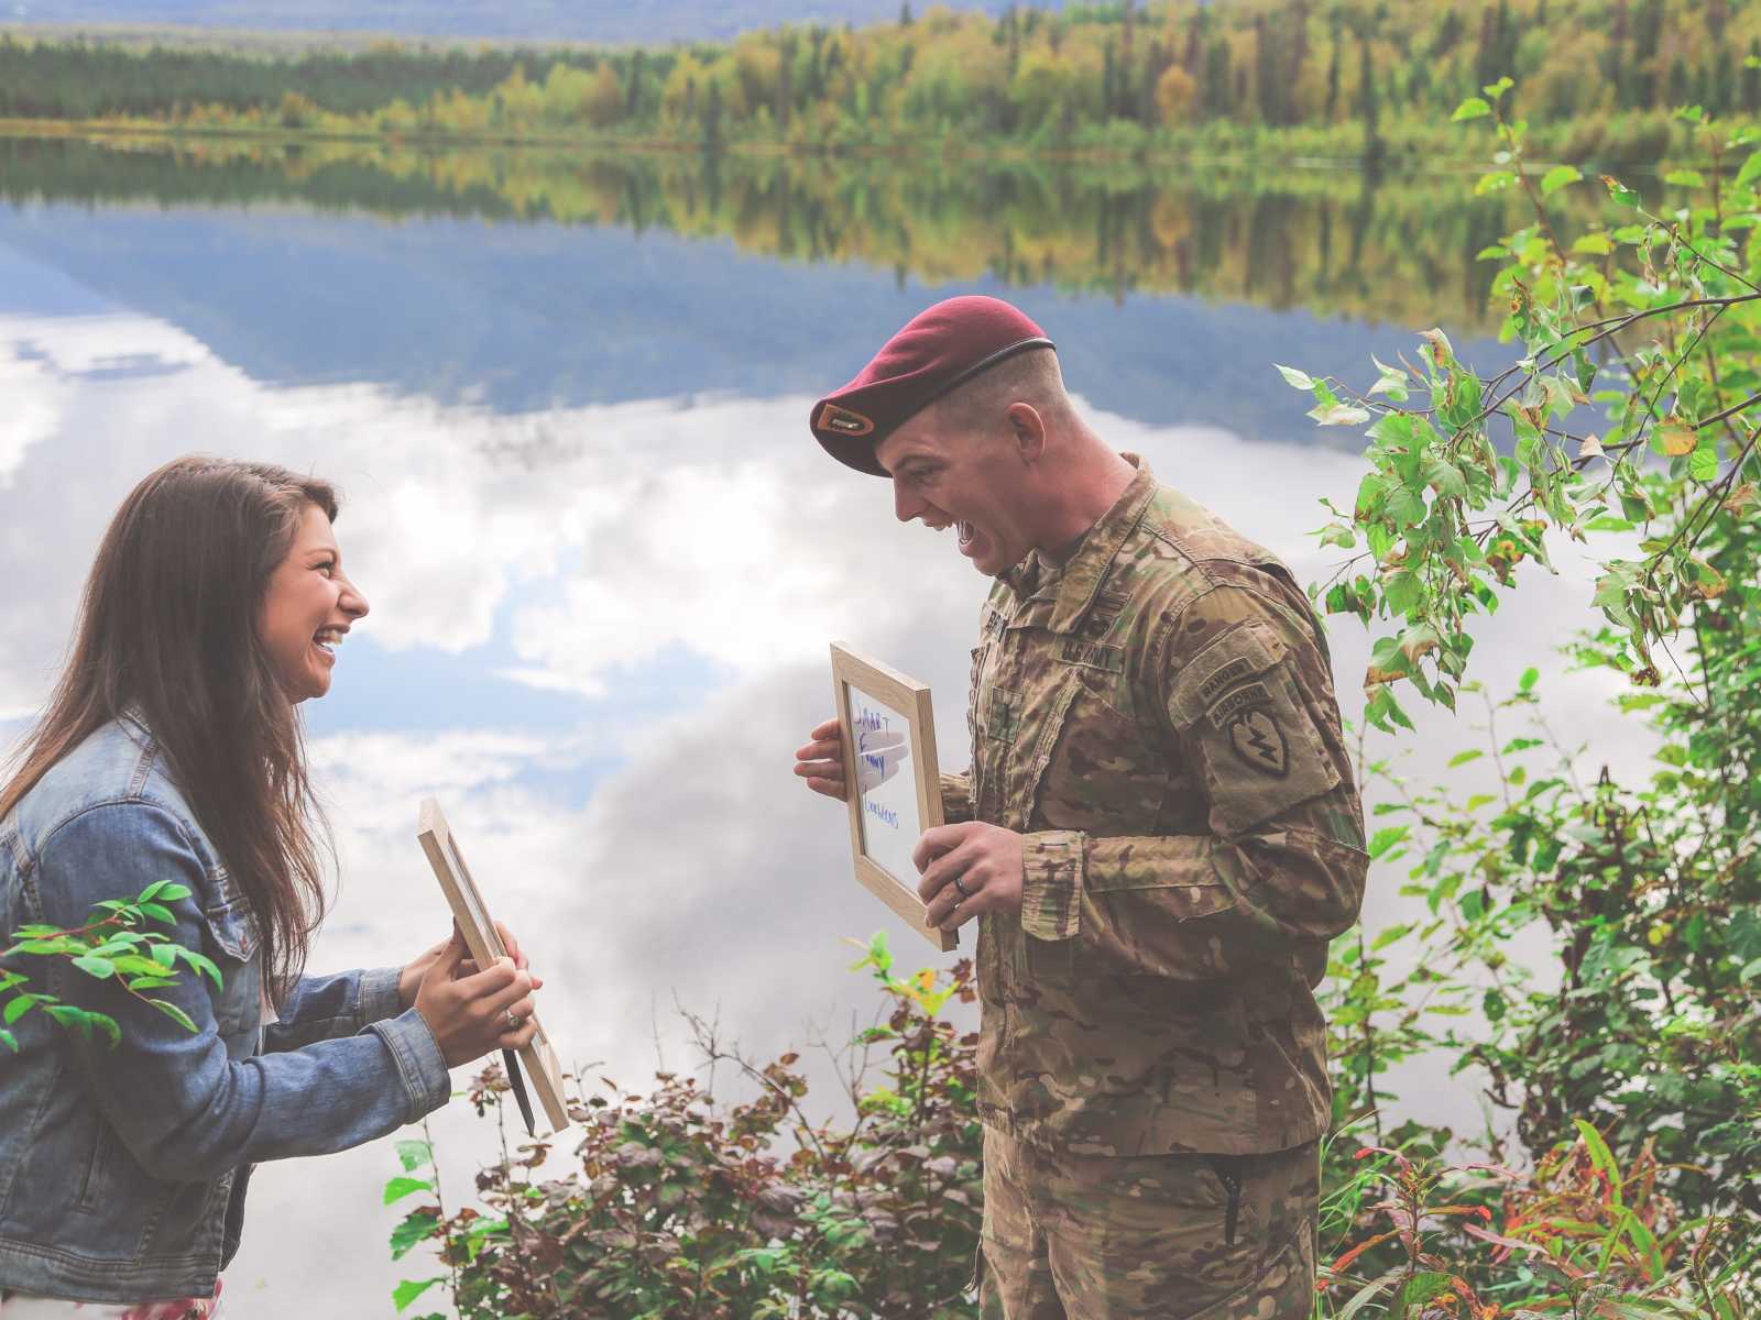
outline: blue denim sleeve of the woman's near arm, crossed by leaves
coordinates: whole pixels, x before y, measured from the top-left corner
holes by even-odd
[[[199,906],[211,885],[171,813],[141,803],[92,808],[62,825],[39,857],[44,919],[58,926],[79,926],[95,903],[134,898],[153,880],[192,891],[166,905],[176,917],[169,938],[185,949],[213,949],[218,917]],[[336,1023],[324,1003],[338,984],[321,982],[301,1017]],[[188,970],[176,986],[150,994],[180,1008],[194,1031],[129,994],[114,977],[93,980],[62,968],[53,986],[65,1001],[107,1014],[122,1030],[114,1047],[102,1037],[67,1038],[99,1111],[155,1177],[218,1177],[241,1163],[342,1151],[423,1118],[451,1091],[446,1060],[414,1008],[347,1038],[232,1060],[210,986]]]

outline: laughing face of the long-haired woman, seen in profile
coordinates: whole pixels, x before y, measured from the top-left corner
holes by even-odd
[[[306,505],[287,556],[269,576],[257,625],[289,700],[329,692],[336,648],[363,614],[366,597],[343,577],[329,519],[317,505]]]

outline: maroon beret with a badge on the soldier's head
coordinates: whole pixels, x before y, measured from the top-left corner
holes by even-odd
[[[919,312],[856,378],[814,405],[808,426],[826,452],[886,477],[875,445],[942,394],[1025,348],[1051,340],[1000,297],[949,297]]]

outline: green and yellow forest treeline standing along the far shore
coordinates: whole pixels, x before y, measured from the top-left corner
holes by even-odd
[[[784,26],[664,49],[474,48],[261,56],[0,37],[0,118],[377,136],[629,136],[680,144],[1448,144],[1509,74],[1548,150],[1655,160],[1669,111],[1761,113],[1761,5],[1740,0],[909,2],[866,28]],[[1477,143],[1467,146],[1477,150]],[[1333,151],[1337,153],[1337,151]]]

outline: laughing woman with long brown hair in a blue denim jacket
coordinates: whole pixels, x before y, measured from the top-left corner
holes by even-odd
[[[0,940],[173,880],[190,894],[171,938],[222,972],[151,991],[188,1031],[114,977],[21,968],[122,1044],[30,1012],[0,1051],[4,1320],[217,1315],[255,1162],[382,1137],[446,1104],[449,1067],[532,1038],[541,982],[477,970],[456,929],[403,968],[303,975],[324,896],[294,708],[329,690],[368,609],[335,517],[329,486],[282,468],[151,473],[0,785]]]

